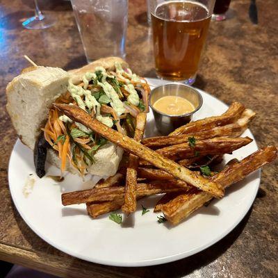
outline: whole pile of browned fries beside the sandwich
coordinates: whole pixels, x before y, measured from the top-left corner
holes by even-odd
[[[239,137],[255,113],[237,102],[222,115],[190,122],[169,136],[142,139],[146,114],[136,118],[134,138],[124,136],[101,124],[77,106],[55,104],[76,122],[114,142],[126,151],[126,158],[113,177],[101,180],[95,188],[64,193],[62,203],[85,203],[92,218],[122,208],[129,215],[136,201],[163,194],[154,207],[165,220],[178,224],[213,197],[224,196],[224,189],[277,157],[277,148],[268,146],[242,161],[230,161],[220,172],[209,165],[222,161],[252,139]]]

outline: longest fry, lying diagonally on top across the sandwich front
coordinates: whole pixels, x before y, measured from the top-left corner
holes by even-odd
[[[133,140],[128,136],[123,136],[121,133],[109,128],[98,120],[92,119],[88,113],[83,111],[83,109],[79,108],[78,106],[67,104],[54,104],[54,106],[60,111],[63,111],[63,113],[65,113],[65,115],[70,117],[72,120],[80,122],[89,129],[92,129],[92,131],[99,133],[104,138],[125,149],[126,152],[134,154],[145,161],[148,161],[159,169],[165,170],[174,177],[177,177],[186,183],[192,184],[196,188],[204,190],[215,197],[222,197],[224,195],[222,188],[220,188],[217,183],[208,181],[208,179],[200,176],[199,174],[192,172],[186,169],[186,167],[183,167],[177,163],[174,163],[174,161],[171,161],[161,154],[152,151],[152,149],[145,147],[139,142],[136,142],[136,140]]]

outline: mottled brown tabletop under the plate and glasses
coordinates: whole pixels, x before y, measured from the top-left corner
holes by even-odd
[[[277,162],[265,167],[254,205],[238,227],[207,250],[187,259],[146,268],[116,268],[75,259],[51,247],[27,227],[8,190],[8,159],[16,140],[5,110],[8,81],[28,66],[70,69],[85,63],[70,3],[44,1],[56,25],[42,31],[22,28],[33,1],[0,5],[0,259],[60,277],[277,277]],[[195,85],[230,104],[257,112],[251,129],[259,146],[278,140],[278,1],[258,0],[259,24],[248,17],[250,1],[234,0],[225,22],[212,22]],[[127,60],[142,76],[155,76],[145,1],[129,1]],[[206,232],[206,231],[204,231]]]

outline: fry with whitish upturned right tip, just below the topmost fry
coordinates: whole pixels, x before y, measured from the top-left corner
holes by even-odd
[[[197,133],[188,133],[188,134],[181,134],[176,136],[158,136],[158,137],[151,137],[145,138],[142,140],[142,144],[154,149],[163,146],[169,145],[177,145],[183,142],[188,142],[188,138],[194,137],[196,140],[204,140],[208,138],[215,138],[215,137],[237,137],[240,136],[245,129],[247,129],[247,124],[252,120],[255,113],[250,109],[245,109],[243,115],[241,115],[240,119],[232,124],[227,124],[224,126],[216,126],[213,129],[207,131],[199,131]]]

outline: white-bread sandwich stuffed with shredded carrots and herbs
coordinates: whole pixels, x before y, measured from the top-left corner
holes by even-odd
[[[149,91],[147,81],[117,57],[70,72],[31,67],[8,84],[7,110],[20,140],[34,150],[39,177],[45,174],[46,159],[62,172],[108,177],[117,172],[123,150],[72,122],[53,104],[77,105],[99,122],[133,137],[136,115],[148,110]]]

